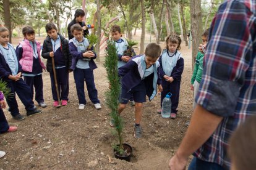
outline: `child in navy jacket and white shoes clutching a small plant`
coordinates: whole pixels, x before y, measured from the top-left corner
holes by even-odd
[[[75,24],[70,28],[74,38],[69,40],[69,51],[72,54],[71,69],[74,70],[75,86],[77,96],[79,98],[79,110],[85,108],[87,101],[85,100],[84,80],[90,100],[96,109],[100,109],[100,100],[98,99],[98,91],[94,83],[93,70],[97,68],[93,59],[96,59],[96,53],[93,52],[94,42],[89,42],[83,37],[83,29],[79,24]]]

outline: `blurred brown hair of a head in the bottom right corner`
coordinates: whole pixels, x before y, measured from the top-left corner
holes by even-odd
[[[237,170],[256,167],[256,116],[249,116],[229,139],[228,155]]]

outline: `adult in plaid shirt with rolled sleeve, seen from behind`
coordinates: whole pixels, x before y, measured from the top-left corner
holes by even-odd
[[[230,168],[228,139],[256,113],[255,14],[256,1],[221,4],[211,23],[197,107],[170,169],[184,169],[192,153],[189,169]]]

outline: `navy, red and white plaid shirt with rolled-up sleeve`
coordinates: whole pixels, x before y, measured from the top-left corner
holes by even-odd
[[[230,167],[228,139],[247,116],[256,114],[256,1],[227,1],[211,23],[196,102],[223,117],[194,156]]]

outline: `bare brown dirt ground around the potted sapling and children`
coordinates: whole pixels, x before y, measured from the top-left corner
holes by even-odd
[[[14,39],[14,45],[21,40]],[[38,38],[43,42],[44,38]],[[140,40],[140,31],[134,39]],[[150,37],[147,34],[146,41]],[[152,36],[152,41],[155,38]],[[145,45],[147,45],[147,43]],[[161,42],[164,47],[164,42]],[[136,49],[139,52],[139,49]],[[103,53],[103,52],[102,52]],[[182,85],[176,119],[161,118],[156,113],[160,108],[160,95],[143,106],[143,137],[134,139],[134,107],[127,106],[124,118],[124,141],[132,145],[130,162],[114,158],[115,138],[109,126],[109,109],[105,105],[105,91],[108,90],[104,55],[96,62],[95,84],[102,109],[96,110],[88,100],[85,110],[78,110],[78,99],[72,73],[69,76],[69,103],[66,107],[54,108],[51,96],[49,73],[43,73],[45,102],[40,115],[15,121],[5,109],[9,124],[18,126],[17,132],[0,135],[0,150],[6,156],[0,159],[0,169],[167,169],[169,158],[174,154],[186,132],[184,123],[192,113],[191,49],[181,46],[185,60]],[[37,103],[36,103],[37,104]],[[38,105],[36,105],[38,107]],[[40,107],[38,107],[40,108]],[[19,109],[25,115],[25,108],[19,101]]]

